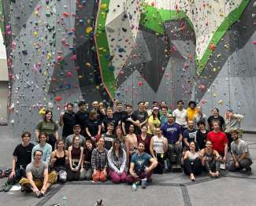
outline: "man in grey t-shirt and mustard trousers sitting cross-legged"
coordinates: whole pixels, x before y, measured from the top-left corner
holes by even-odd
[[[47,189],[57,182],[58,174],[48,175],[48,164],[42,160],[43,152],[33,152],[34,161],[26,167],[26,178],[20,179],[21,191],[34,192],[36,197],[42,197]]]

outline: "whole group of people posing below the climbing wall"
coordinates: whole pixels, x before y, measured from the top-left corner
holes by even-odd
[[[33,191],[42,197],[55,182],[91,180],[114,183],[140,183],[146,188],[153,173],[184,170],[191,181],[205,170],[218,177],[220,169],[245,169],[250,173],[252,160],[241,137],[243,116],[228,109],[224,117],[218,109],[206,117],[195,101],[177,102],[171,111],[161,101],[132,105],[115,102],[114,109],[105,109],[94,101],[90,112],[85,101],[79,110],[68,103],[58,123],[46,110],[35,127],[35,139],[24,132],[21,144],[13,152],[12,172],[2,191],[9,191],[20,182],[21,191]],[[113,112],[115,110],[115,112]],[[62,134],[59,135],[59,127]],[[227,165],[228,151],[232,161]]]

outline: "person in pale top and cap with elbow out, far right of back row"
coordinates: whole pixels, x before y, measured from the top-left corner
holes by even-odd
[[[228,109],[228,111],[225,113],[225,116],[224,116],[225,130],[224,130],[224,132],[227,134],[227,138],[228,138],[228,149],[230,149],[230,145],[232,142],[231,134],[229,132],[232,131],[233,129],[240,128],[243,118],[244,118],[243,115],[234,114],[232,109]]]

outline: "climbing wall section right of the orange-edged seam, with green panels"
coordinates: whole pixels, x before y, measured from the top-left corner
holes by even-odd
[[[102,1],[96,39],[109,94],[134,106],[193,99],[207,115],[231,107],[255,130],[255,11],[254,0]]]

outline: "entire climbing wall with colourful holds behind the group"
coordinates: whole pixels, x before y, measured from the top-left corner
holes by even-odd
[[[4,1],[9,4],[9,1]],[[195,100],[255,130],[255,0],[10,1],[6,35],[15,135],[84,99]],[[6,18],[7,19],[7,18]]]

